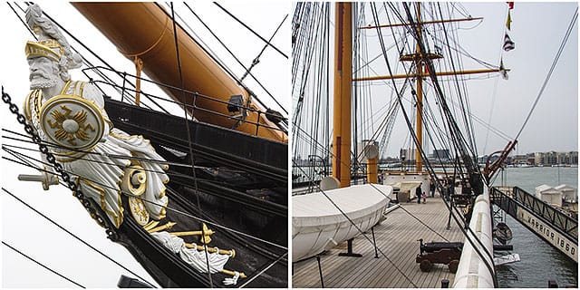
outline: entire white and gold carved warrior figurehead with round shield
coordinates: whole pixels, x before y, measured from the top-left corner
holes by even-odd
[[[166,211],[168,162],[156,153],[150,140],[114,128],[104,110],[102,92],[92,82],[71,80],[68,71],[81,67],[82,58],[73,53],[53,22],[43,17],[38,5],[27,8],[26,22],[38,40],[24,47],[32,90],[24,100],[24,117],[38,136],[52,145],[55,160],[82,194],[92,199],[91,206],[105,220],[100,225],[114,231],[131,218],[150,234],[151,241],[169,248],[199,272],[231,275],[223,283],[236,285],[237,279],[246,275],[224,269],[235,250],[210,247],[214,232],[205,224],[200,231],[168,231],[176,224],[169,221]],[[21,177],[42,181],[45,190],[58,184],[51,173]],[[124,214],[127,209],[131,215]],[[201,237],[201,246],[186,243],[184,236]]]

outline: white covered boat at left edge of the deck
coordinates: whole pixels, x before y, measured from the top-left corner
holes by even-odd
[[[328,198],[321,192],[292,198],[293,261],[317,255],[335,246],[334,243],[358,236],[359,230],[349,219],[362,231],[374,226],[389,204],[392,187],[365,184],[324,193]]]

